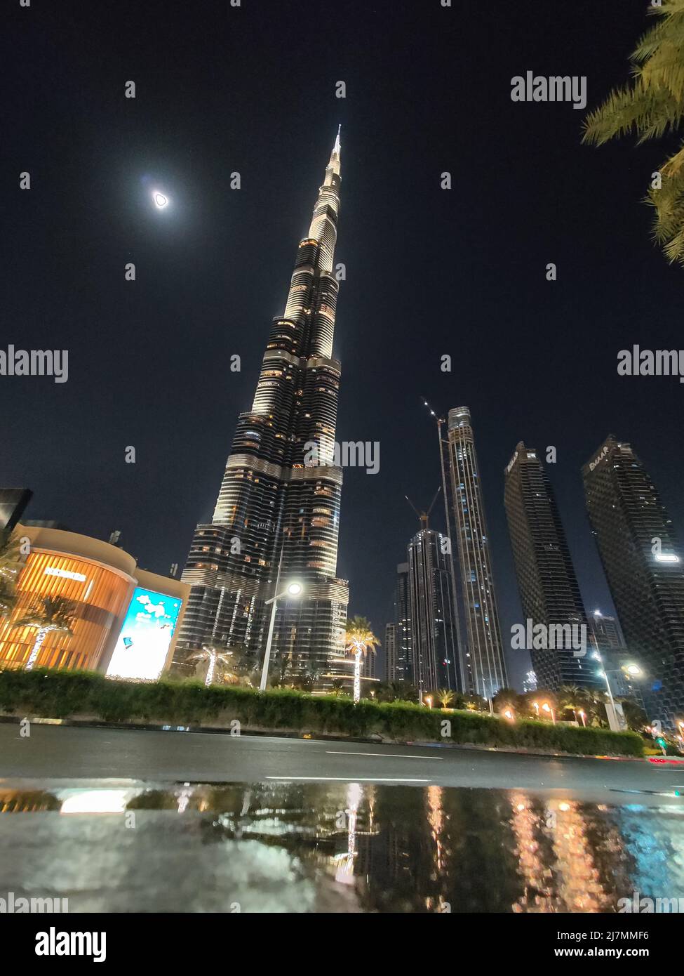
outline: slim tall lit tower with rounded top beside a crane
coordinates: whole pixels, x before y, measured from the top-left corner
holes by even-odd
[[[449,536],[455,540],[461,576],[465,634],[463,671],[466,692],[492,698],[507,685],[499,610],[480,484],[475,442],[467,407],[449,411]]]

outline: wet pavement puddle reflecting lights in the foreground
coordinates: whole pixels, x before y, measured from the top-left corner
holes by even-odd
[[[359,783],[0,783],[0,898],[69,912],[616,912],[684,898],[684,808]]]

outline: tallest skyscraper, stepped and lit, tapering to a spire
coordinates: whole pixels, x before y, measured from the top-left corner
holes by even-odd
[[[272,653],[289,659],[290,673],[314,672],[323,684],[342,649],[348,599],[346,582],[336,578],[342,469],[333,463],[340,151],[338,133],[285,311],[271,326],[252,410],[238,418],[214,517],[195,530],[179,636],[181,650],[211,641],[259,656],[264,601],[276,582],[282,590],[297,580],[302,599],[278,601]]]

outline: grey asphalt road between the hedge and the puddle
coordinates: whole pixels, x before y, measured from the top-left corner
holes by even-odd
[[[36,724],[29,737],[21,738],[13,723],[0,723],[0,777],[434,784],[560,790],[593,802],[662,803],[663,793],[676,788],[684,793],[684,768],[657,769],[644,760]],[[684,798],[675,801],[684,803]]]

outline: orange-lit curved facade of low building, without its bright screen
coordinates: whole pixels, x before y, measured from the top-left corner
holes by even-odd
[[[0,670],[25,666],[37,628],[19,627],[17,622],[47,596],[69,601],[72,633],[49,631],[35,667],[98,671],[111,657],[139,583],[161,583],[174,595],[177,588],[189,589],[177,580],[139,570],[133,556],[99,539],[23,525],[16,531],[28,554],[17,583],[17,606],[0,623]],[[172,652],[173,644],[169,660]]]

